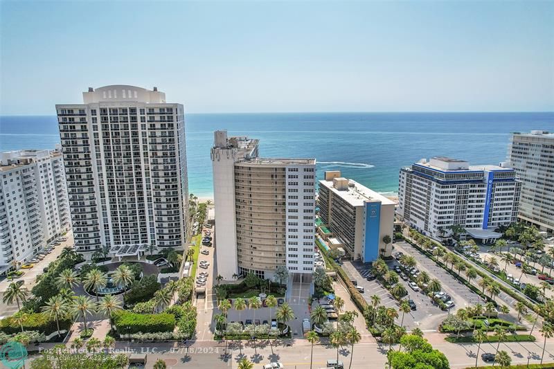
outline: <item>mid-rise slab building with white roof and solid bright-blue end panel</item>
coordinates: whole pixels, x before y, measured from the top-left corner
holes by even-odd
[[[392,245],[385,235],[393,237],[394,201],[341,177],[339,171],[325,172],[319,181],[319,217],[332,232],[350,258],[371,262],[379,255],[391,255]]]

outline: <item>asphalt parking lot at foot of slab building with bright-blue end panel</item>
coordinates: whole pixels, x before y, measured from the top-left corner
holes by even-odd
[[[397,265],[396,261],[388,262],[388,267],[393,268]],[[365,276],[370,269],[370,264],[363,264],[360,262],[344,262],[343,269],[352,280],[357,281],[357,285],[364,287],[364,298],[368,303],[371,303],[371,296],[377,295],[381,298],[381,305],[385,307],[393,307],[398,309],[399,303],[391,296],[387,289],[385,289],[377,280],[366,280]],[[415,292],[408,286],[408,282],[400,279],[399,283],[402,283],[408,291],[408,295],[405,298],[414,301],[417,309],[412,310],[404,316],[403,325],[411,330],[415,327],[419,327],[424,332],[435,332],[436,327],[440,321],[447,316],[447,312],[443,312],[437,306],[433,305],[432,301],[425,296],[422,292]],[[402,313],[398,314],[396,323],[400,324],[402,321]]]

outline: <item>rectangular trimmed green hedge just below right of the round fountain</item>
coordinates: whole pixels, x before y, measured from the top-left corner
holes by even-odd
[[[125,310],[114,313],[114,323],[119,334],[172,332],[176,324],[173,314],[135,314]]]

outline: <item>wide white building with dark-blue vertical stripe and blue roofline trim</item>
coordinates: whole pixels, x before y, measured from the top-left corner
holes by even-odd
[[[400,170],[397,216],[436,239],[460,225],[483,242],[517,221],[521,182],[512,168],[434,157]]]

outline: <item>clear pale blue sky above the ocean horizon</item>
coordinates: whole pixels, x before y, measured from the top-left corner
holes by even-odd
[[[554,2],[0,1],[0,114],[87,87],[189,112],[552,111]]]

